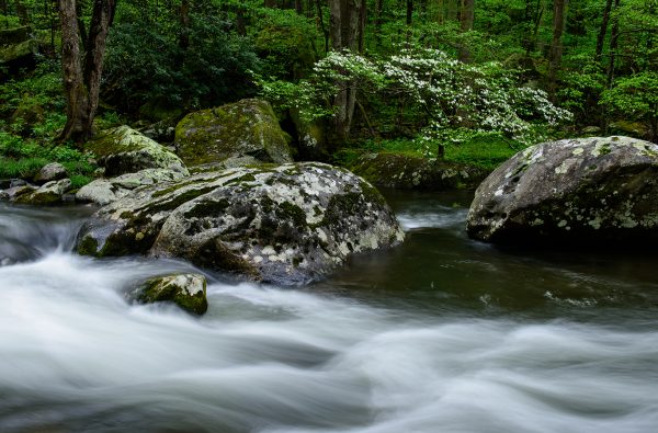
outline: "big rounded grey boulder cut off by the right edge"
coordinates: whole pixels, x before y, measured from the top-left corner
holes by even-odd
[[[472,238],[610,244],[658,239],[658,146],[628,137],[530,147],[477,189]]]

